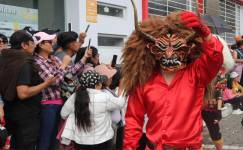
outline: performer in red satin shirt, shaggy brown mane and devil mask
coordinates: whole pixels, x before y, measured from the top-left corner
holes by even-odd
[[[124,150],[138,147],[145,114],[147,149],[201,148],[205,87],[223,64],[223,46],[215,37],[198,43],[193,36],[205,38],[211,32],[191,12],[175,13],[167,20],[151,18],[142,22],[141,28],[136,26],[136,33],[128,40],[123,54],[124,87],[129,97]],[[192,59],[192,55],[197,55],[197,59]],[[145,62],[136,62],[142,59]],[[146,66],[148,63],[152,69]],[[135,75],[129,75],[129,70]],[[170,85],[163,71],[176,72]]]

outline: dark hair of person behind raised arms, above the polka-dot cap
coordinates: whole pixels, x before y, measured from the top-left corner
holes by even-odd
[[[79,51],[77,52],[76,58],[74,63],[79,62],[80,59],[82,59],[84,57],[85,51],[86,51],[87,47],[82,47],[79,49]],[[94,58],[96,55],[98,55],[98,49],[94,46],[90,46],[90,49],[92,49],[92,57]],[[91,58],[88,58],[86,63],[90,63],[93,64]],[[94,64],[93,64],[94,65]]]

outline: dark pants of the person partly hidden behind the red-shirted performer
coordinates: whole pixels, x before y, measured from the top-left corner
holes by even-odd
[[[209,111],[202,111],[202,118],[206,123],[206,126],[209,131],[209,135],[213,141],[221,140],[222,134],[220,132],[220,127],[218,123],[214,123],[214,120],[220,120],[221,116],[218,116],[221,112],[209,112]]]

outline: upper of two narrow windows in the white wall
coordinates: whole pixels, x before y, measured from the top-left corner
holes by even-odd
[[[124,8],[115,6],[115,5],[109,5],[105,3],[98,3],[98,14],[99,15],[106,15],[106,16],[112,16],[112,17],[124,17]]]

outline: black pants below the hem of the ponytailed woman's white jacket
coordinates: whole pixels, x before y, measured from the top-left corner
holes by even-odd
[[[112,150],[112,140],[96,145],[80,145],[75,143],[75,150]]]

